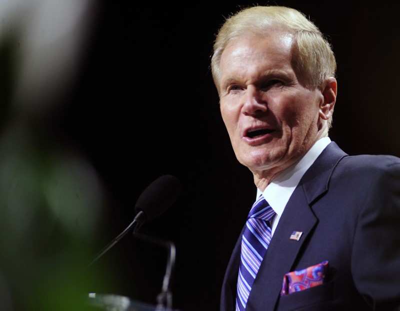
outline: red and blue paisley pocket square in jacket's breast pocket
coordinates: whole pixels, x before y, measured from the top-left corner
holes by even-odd
[[[303,291],[311,287],[321,285],[329,269],[328,261],[305,268],[303,270],[286,273],[283,277],[280,296],[289,295],[294,292]]]

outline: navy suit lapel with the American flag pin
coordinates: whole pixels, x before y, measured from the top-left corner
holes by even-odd
[[[310,205],[327,191],[331,173],[343,156],[345,153],[331,142],[301,178],[286,204],[258,270],[246,311],[274,310],[284,274],[291,271],[301,246],[317,225],[318,220]],[[293,231],[302,232],[299,241],[290,240]]]

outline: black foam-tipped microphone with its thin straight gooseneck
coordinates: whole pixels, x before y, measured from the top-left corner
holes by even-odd
[[[135,233],[146,220],[151,220],[161,215],[169,208],[180,195],[181,186],[178,179],[172,175],[162,175],[154,180],[141,193],[136,201],[134,210],[136,216],[133,221],[122,231],[115,239],[106,245],[86,268],[94,264],[101,256],[103,256],[111,247],[113,247],[120,239],[122,239],[131,229]]]

